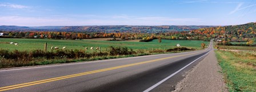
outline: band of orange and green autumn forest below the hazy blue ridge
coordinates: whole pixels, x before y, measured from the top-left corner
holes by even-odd
[[[169,28],[169,27],[168,27]],[[236,26],[205,27],[190,31],[169,31],[169,32],[60,32],[60,31],[0,31],[3,33],[0,37],[8,38],[29,38],[29,39],[92,39],[92,38],[119,38],[121,40],[153,40],[153,39],[171,39],[171,40],[204,40],[210,39],[222,40],[227,42],[249,42],[253,44],[256,41],[256,23],[247,23]]]

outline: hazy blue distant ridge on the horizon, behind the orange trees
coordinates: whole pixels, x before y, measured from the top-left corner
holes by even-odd
[[[191,31],[198,28],[214,26],[41,26],[41,27],[19,27],[0,26],[0,31],[76,31],[76,32],[170,32]]]

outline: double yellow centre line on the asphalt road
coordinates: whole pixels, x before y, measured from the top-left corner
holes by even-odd
[[[197,52],[197,53],[199,53],[199,52]],[[190,54],[187,54],[187,55],[193,55],[193,54],[195,54],[195,53],[190,53]],[[78,76],[85,76],[87,74],[105,72],[105,71],[108,71],[108,70],[114,70],[114,69],[119,69],[119,68],[126,68],[126,67],[129,67],[129,66],[141,65],[141,64],[146,64],[146,63],[149,63],[149,62],[155,62],[155,61],[159,61],[159,60],[165,60],[167,58],[174,58],[174,57],[180,57],[180,56],[185,56],[185,55],[178,55],[178,56],[159,58],[159,59],[156,59],[156,60],[137,62],[137,63],[134,63],[134,64],[115,66],[115,67],[112,67],[112,68],[93,70],[93,71],[90,71],[90,72],[71,74],[71,75],[68,75],[68,76],[49,78],[49,79],[46,79],[46,80],[33,81],[33,82],[27,82],[27,83],[20,83],[18,85],[11,85],[11,86],[0,87],[0,91],[6,91],[6,90],[11,90],[11,89],[18,89],[18,88],[21,88],[21,87],[38,85],[38,84],[41,84],[41,83],[47,83],[47,82],[58,81],[58,80],[64,80],[64,79],[67,79],[67,78],[73,78],[73,77],[78,77]]]

